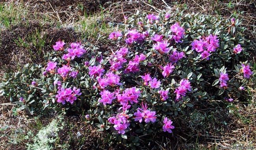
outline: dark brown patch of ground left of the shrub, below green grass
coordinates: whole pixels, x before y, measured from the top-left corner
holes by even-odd
[[[32,34],[39,32],[44,37],[45,46],[42,47],[41,53],[28,41]],[[80,34],[76,33],[72,28],[56,28],[50,25],[41,26],[38,22],[22,22],[19,25],[11,27],[11,29],[0,33],[0,74],[6,72],[6,69],[15,70],[18,65],[22,66],[26,63],[43,62],[43,54],[45,51],[52,49],[52,45],[58,40],[65,40],[66,43],[80,40]],[[20,45],[19,39],[28,43],[28,47]],[[38,42],[38,38],[36,39]]]

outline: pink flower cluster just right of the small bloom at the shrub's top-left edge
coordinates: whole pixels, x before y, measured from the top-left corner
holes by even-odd
[[[142,43],[145,39],[144,34],[139,33],[135,29],[128,31],[126,37],[127,39],[125,40],[125,43],[127,45],[131,45],[133,42]]]

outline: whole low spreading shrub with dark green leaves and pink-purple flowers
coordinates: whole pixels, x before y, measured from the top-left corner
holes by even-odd
[[[125,22],[108,36],[116,49],[56,42],[44,68],[6,74],[2,94],[30,113],[90,108],[85,117],[110,132],[106,141],[132,148],[141,135],[172,133],[172,120],[196,101],[243,100],[253,72],[239,20],[177,11]]]

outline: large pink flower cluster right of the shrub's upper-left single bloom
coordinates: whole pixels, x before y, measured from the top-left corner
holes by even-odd
[[[62,56],[63,60],[74,60],[75,57],[81,57],[86,51],[81,43],[71,43],[68,52]]]

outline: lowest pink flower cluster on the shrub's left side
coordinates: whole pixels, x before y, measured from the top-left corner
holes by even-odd
[[[58,98],[57,102],[62,103],[63,105],[66,102],[73,104],[74,101],[77,99],[76,96],[81,95],[80,89],[76,89],[76,87],[73,87],[73,89],[71,89],[71,87],[67,89],[61,88],[58,90],[57,93],[58,93],[58,95],[56,95],[56,98]]]

